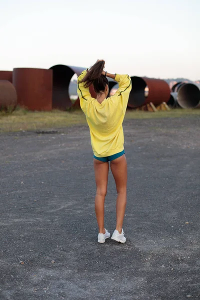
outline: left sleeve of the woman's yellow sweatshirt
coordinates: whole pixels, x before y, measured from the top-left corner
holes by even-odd
[[[78,83],[84,76],[86,75],[87,71],[84,70],[77,78],[77,94],[80,99],[80,107],[82,108],[83,112],[85,111],[85,107],[87,105],[87,101],[91,99],[91,95],[89,92],[88,87],[84,87],[84,83]]]

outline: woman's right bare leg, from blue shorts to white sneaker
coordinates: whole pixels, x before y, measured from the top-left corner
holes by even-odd
[[[126,206],[127,163],[125,154],[112,160],[110,168],[116,183],[116,230],[121,233]]]

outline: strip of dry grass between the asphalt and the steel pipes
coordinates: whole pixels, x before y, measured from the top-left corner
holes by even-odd
[[[157,112],[127,110],[125,119],[183,117],[195,115],[200,116],[200,109],[171,109],[170,111]],[[12,113],[0,112],[0,132],[58,128],[85,123],[85,116],[81,110],[71,112],[52,110],[49,112],[43,112],[16,109]]]

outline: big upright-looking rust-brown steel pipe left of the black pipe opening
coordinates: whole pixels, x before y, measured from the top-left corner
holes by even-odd
[[[20,106],[30,110],[52,109],[52,70],[14,68],[12,80]]]

